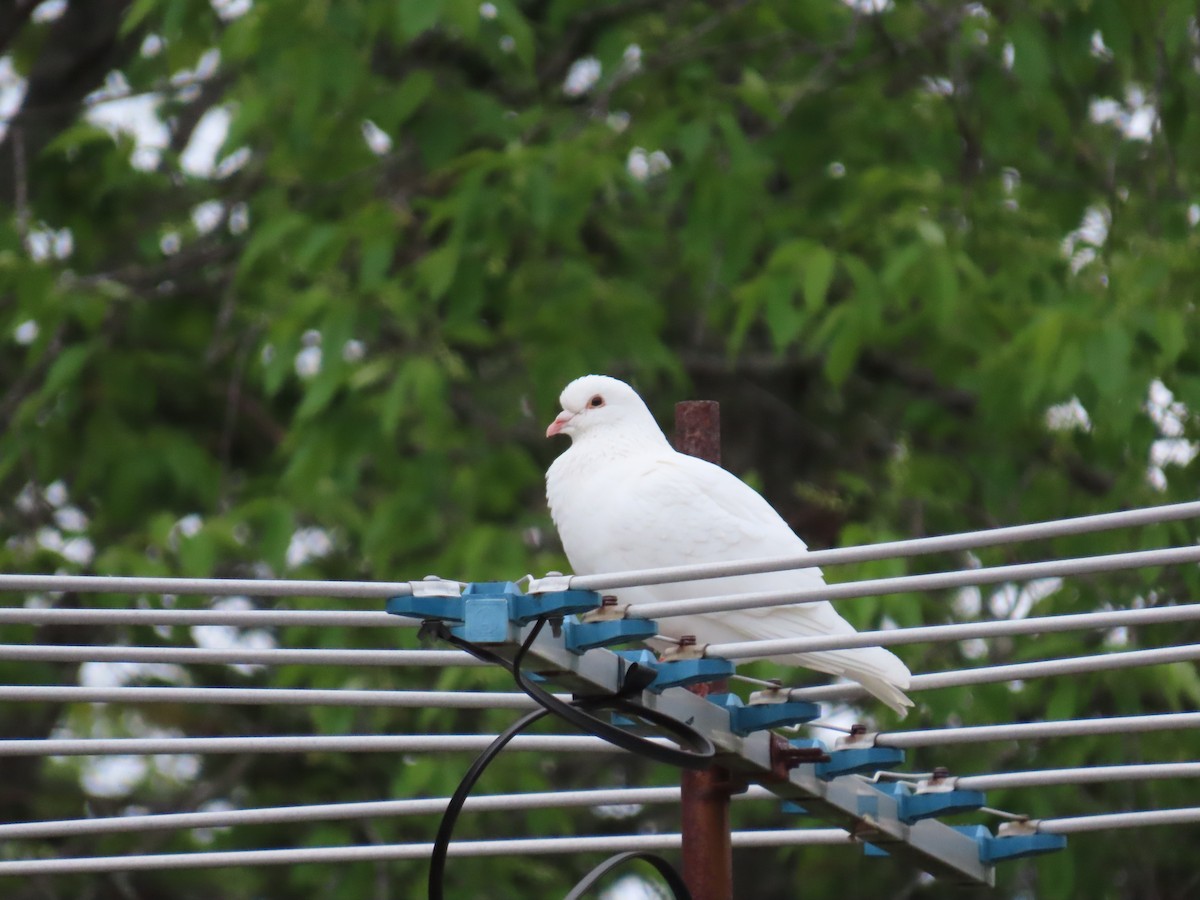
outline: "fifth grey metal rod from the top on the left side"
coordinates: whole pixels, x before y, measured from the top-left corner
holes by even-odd
[[[124,756],[148,754],[443,754],[479,752],[494,734],[286,734],[234,738],[47,738],[0,740],[4,756]],[[521,734],[510,750],[624,752],[583,734]]]

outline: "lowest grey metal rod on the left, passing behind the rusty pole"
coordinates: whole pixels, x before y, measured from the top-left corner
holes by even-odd
[[[854,846],[854,839],[839,828],[733,832],[732,840],[734,847]],[[493,841],[456,841],[450,845],[450,856],[515,857],[547,853],[616,853],[626,850],[678,850],[682,838],[678,834],[622,834],[596,838],[526,838]],[[432,847],[432,844],[392,844],[358,847],[299,847],[295,850],[246,850],[215,853],[83,857],[76,859],[14,859],[0,862],[0,876],[427,859]]]

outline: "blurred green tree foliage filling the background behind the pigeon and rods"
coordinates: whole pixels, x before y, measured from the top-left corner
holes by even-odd
[[[511,578],[562,568],[541,493],[560,386],[604,371],[725,457],[814,546],[1188,498],[1200,408],[1194,4],[71,0],[0,13],[24,100],[0,144],[0,509],[8,571]],[[12,80],[11,79],[11,80]],[[140,133],[127,125],[152,113]],[[122,119],[124,116],[124,119]],[[150,133],[152,132],[152,133]],[[1187,526],[978,554],[1183,544]],[[833,580],[962,565],[847,566]],[[1075,580],[1036,612],[1186,601],[1192,569]],[[1026,614],[1027,586],[848,601],[858,626]],[[169,599],[148,596],[157,606]],[[19,601],[19,600],[18,600]],[[49,596],[55,605],[130,598]],[[180,600],[182,605],[185,601]],[[257,601],[256,601],[257,602]],[[328,608],[331,601],[305,601]],[[913,671],[1196,640],[1174,626],[902,652]],[[4,629],[173,643],[187,629]],[[407,632],[290,628],[280,646]],[[766,670],[764,670],[766,671]],[[10,683],[74,667],[0,664]],[[140,678],[172,678],[142,673]],[[198,667],[197,684],[503,685],[475,670]],[[1194,708],[1190,665],[935,691],[905,727]],[[880,725],[894,722],[876,709]],[[487,730],[505,714],[0,709],[0,734]],[[920,751],[976,773],[1188,760],[1181,734]],[[89,794],[7,761],[5,821],[444,796],[466,762],[211,757]],[[670,782],[502,758],[486,790]],[[655,781],[656,780],[656,781]],[[1036,816],[1187,805],[1176,782],[997,792]],[[1190,798],[1190,799],[1189,799]],[[779,814],[746,804],[750,824]],[[673,830],[539,811],[528,834]],[[515,826],[470,817],[461,833]],[[18,852],[427,840],[425,820],[70,840]],[[1088,835],[1020,896],[1183,896],[1186,832]],[[1099,860],[1082,865],[1085,859]],[[894,863],[739,857],[760,896],[942,896]],[[462,895],[552,896],[577,859],[474,862]],[[12,896],[404,895],[421,865],[70,878]],[[467,886],[475,886],[470,890]],[[482,892],[482,893],[481,893]],[[907,892],[907,893],[906,893]]]

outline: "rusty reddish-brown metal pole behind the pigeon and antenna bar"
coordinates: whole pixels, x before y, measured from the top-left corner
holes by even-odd
[[[721,410],[710,400],[676,403],[676,449],[721,463]],[[728,690],[725,682],[690,689],[701,696]],[[683,773],[680,818],[683,878],[692,900],[733,900],[733,846],[730,840],[730,772],[720,766]]]

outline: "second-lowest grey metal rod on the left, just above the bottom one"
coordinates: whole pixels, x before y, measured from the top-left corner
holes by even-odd
[[[482,794],[467,798],[469,812],[514,811],[529,809],[568,809],[575,806],[616,806],[626,804],[678,803],[679,786],[623,787],[595,791],[542,791],[530,793]],[[734,800],[775,799],[766,787],[751,785]],[[331,822],[337,820],[383,818],[392,816],[440,815],[448,797],[413,800],[377,800],[368,803],[323,803],[304,806],[262,806],[245,810],[208,812],[166,812],[144,816],[106,818],[67,818],[56,822],[16,822],[0,824],[0,840],[31,838],[67,838],[82,834],[122,832],[158,832],[182,828],[229,828],[233,826],[280,824],[286,822]]]

